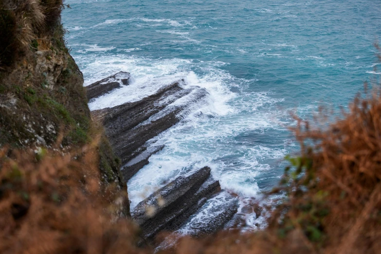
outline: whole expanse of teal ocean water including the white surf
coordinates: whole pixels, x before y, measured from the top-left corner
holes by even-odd
[[[241,206],[260,199],[298,149],[290,112],[309,118],[320,105],[346,107],[364,81],[380,76],[377,0],[65,3],[66,40],[85,85],[119,71],[134,80],[91,109],[137,101],[181,78],[209,92],[157,138],[165,148],[128,181],[131,207],[204,165]]]

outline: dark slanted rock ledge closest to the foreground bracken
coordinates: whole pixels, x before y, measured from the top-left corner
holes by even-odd
[[[160,231],[174,231],[194,214],[206,200],[220,190],[218,181],[203,167],[159,189],[140,202],[131,212],[141,226],[142,236],[153,240]]]

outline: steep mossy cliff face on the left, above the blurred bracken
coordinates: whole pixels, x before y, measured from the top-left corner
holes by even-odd
[[[62,0],[0,0],[0,147],[70,152],[99,138],[100,175],[126,188],[65,46]],[[108,185],[108,184],[106,184]],[[129,213],[129,208],[126,208]]]

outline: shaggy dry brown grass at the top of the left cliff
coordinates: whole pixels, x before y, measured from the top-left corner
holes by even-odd
[[[50,41],[60,25],[62,0],[0,0],[0,70],[36,48],[36,40]]]

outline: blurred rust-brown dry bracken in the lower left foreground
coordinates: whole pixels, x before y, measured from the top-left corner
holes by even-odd
[[[96,144],[0,151],[0,253],[142,253],[120,217],[126,193],[99,179]]]

